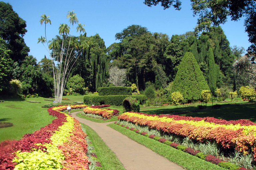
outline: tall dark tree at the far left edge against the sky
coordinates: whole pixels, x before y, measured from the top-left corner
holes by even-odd
[[[9,3],[0,2],[0,37],[10,49],[10,58],[19,62],[28,55],[29,47],[25,44],[23,36],[27,32],[26,22],[13,11]]]

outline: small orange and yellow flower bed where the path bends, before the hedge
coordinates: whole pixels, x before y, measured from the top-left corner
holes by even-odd
[[[100,109],[103,107],[109,107],[110,105],[101,105],[101,106],[90,106],[83,109],[84,113],[90,113],[95,115],[100,115],[103,118],[111,118],[112,116],[119,113],[119,110],[116,109]]]

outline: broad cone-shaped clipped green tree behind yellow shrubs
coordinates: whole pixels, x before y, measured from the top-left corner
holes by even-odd
[[[210,90],[194,55],[186,52],[178,67],[171,93],[180,92],[185,101],[196,101],[202,90]]]

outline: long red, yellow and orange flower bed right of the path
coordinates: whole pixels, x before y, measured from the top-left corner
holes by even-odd
[[[233,149],[243,154],[252,151],[256,160],[256,124],[248,120],[226,121],[210,117],[158,116],[135,112],[123,113],[118,119],[181,137],[188,136],[198,142],[215,141],[228,152]]]

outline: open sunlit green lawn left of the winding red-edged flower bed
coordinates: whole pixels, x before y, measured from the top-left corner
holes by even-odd
[[[74,102],[83,102],[83,96],[63,96],[70,100],[62,100],[61,105],[74,105]],[[12,127],[0,129],[0,142],[7,139],[19,140],[24,134],[33,133],[50,124],[55,117],[48,114],[44,104],[52,103],[50,98],[4,99],[0,102],[0,122],[13,123]],[[37,101],[41,103],[30,103]]]

